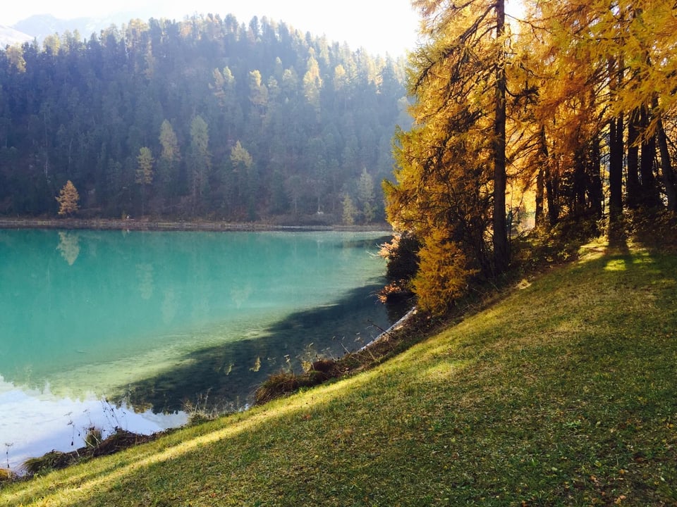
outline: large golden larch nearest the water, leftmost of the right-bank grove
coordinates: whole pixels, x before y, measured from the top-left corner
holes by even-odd
[[[505,11],[502,0],[413,5],[429,42],[410,56],[414,125],[396,134],[396,184],[384,190],[389,221],[423,245],[415,287],[439,313],[470,275],[508,268]],[[438,261],[458,280],[428,298]]]

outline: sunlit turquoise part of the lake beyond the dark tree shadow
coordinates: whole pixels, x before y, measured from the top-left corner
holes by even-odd
[[[243,339],[382,269],[373,234],[319,236],[0,231],[0,375],[62,389],[64,371]]]

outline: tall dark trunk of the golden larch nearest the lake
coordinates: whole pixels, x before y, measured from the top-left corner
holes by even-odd
[[[494,117],[494,268],[508,270],[508,229],[506,222],[506,68],[503,37],[506,30],[505,0],[496,1],[496,115]]]

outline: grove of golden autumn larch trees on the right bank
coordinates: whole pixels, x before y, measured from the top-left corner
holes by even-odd
[[[520,18],[504,0],[412,4],[428,37],[385,184],[406,241],[386,253],[398,270],[413,258],[422,308],[444,313],[473,280],[507,273],[525,211],[532,238],[622,244],[640,216],[674,231],[673,0],[525,0]]]

